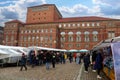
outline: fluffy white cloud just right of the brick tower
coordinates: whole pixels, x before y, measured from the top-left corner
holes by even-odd
[[[65,17],[70,16],[86,16],[86,15],[102,15],[100,12],[99,6],[94,6],[92,8],[89,8],[82,4],[76,4],[73,7],[65,7],[62,6],[59,8],[60,12],[64,14]]]

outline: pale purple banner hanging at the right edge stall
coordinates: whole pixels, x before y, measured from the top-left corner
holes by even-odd
[[[111,48],[114,61],[115,80],[120,80],[120,42],[112,43]]]

